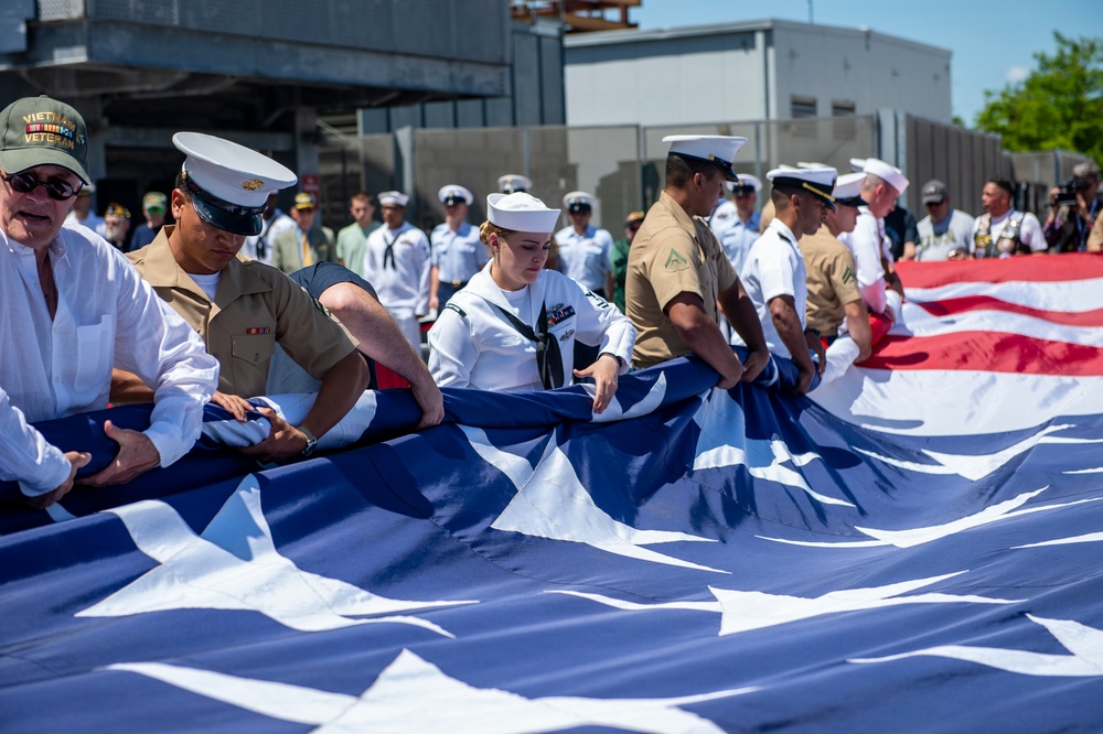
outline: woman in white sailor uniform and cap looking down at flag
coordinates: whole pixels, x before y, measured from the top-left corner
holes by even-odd
[[[628,371],[635,327],[574,280],[546,270],[559,209],[525,193],[486,197],[481,235],[491,261],[452,296],[429,331],[429,371],[440,387],[514,392],[593,378],[595,412]],[[572,369],[575,339],[598,357]]]

